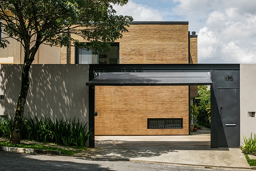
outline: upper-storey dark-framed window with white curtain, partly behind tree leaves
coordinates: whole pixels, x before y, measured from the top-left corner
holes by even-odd
[[[94,55],[92,50],[76,47],[76,63],[79,64],[118,64],[119,63],[119,43],[111,44],[108,51],[99,51]]]

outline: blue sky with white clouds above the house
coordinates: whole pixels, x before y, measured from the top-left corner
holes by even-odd
[[[256,0],[129,0],[114,9],[134,21],[188,21],[198,63],[256,63]]]

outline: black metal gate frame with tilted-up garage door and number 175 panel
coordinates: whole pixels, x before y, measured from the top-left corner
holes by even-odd
[[[218,88],[239,89],[239,65],[204,65],[204,64],[148,64],[148,65],[90,65],[89,69],[89,126],[94,132],[95,113],[95,87],[94,86],[172,86],[172,85],[212,85],[211,87],[211,148],[235,147],[234,144],[221,144],[222,140],[232,139],[227,137],[227,129],[224,134],[218,134],[221,114],[218,110]],[[132,92],[131,92],[132,93]],[[233,99],[239,103],[239,96]],[[229,103],[229,102],[227,102]],[[216,108],[217,107],[217,108]],[[239,105],[235,106],[239,111]],[[188,115],[189,117],[189,112]],[[224,116],[224,115],[223,115]],[[240,115],[239,115],[240,116]],[[238,117],[239,117],[238,116]],[[223,122],[223,120],[221,120]],[[230,124],[236,123],[225,123]],[[234,134],[240,136],[239,124]],[[221,128],[220,128],[221,129]],[[234,140],[230,140],[233,142]],[[235,140],[236,141],[236,140]],[[239,141],[238,141],[239,142]],[[94,147],[94,139],[89,141],[89,146]]]

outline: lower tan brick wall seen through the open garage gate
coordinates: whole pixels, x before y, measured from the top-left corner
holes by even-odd
[[[188,135],[188,86],[96,86],[95,135]],[[148,118],[183,118],[183,129],[147,129]]]

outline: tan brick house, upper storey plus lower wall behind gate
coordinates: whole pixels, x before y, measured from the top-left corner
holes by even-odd
[[[70,47],[67,59],[67,49],[61,48],[61,63],[197,63],[197,35],[189,35],[188,29],[188,22],[134,22],[110,51],[93,55],[91,50]],[[189,134],[189,86],[96,86],[95,90],[96,135]],[[196,96],[197,86],[191,86],[190,99]]]

